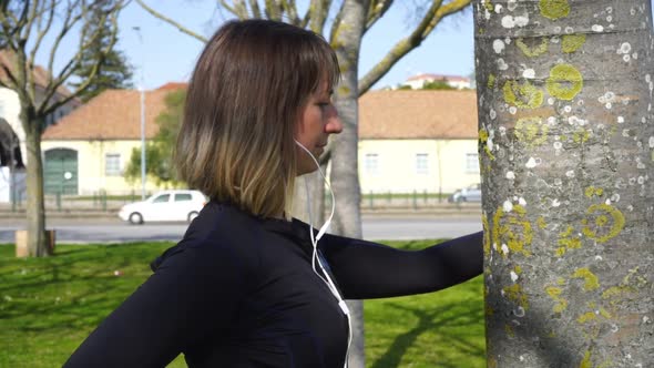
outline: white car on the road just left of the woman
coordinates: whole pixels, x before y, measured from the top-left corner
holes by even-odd
[[[124,205],[119,217],[134,225],[159,221],[192,222],[205,204],[206,197],[198,191],[162,191],[143,202]]]

